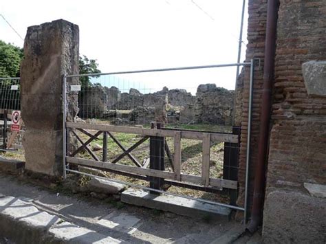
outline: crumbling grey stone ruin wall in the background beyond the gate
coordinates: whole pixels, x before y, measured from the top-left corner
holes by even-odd
[[[121,93],[117,87],[89,87],[80,98],[80,118],[107,118],[116,124],[149,123],[161,117],[169,123],[232,125],[234,91],[199,85],[196,96],[184,89],[164,87],[142,94],[131,88]],[[160,114],[161,113],[161,114]]]

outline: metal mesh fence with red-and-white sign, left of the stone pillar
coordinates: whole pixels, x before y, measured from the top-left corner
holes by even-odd
[[[20,118],[20,78],[0,78],[0,151],[23,154],[23,120]],[[17,120],[12,120],[13,116]]]

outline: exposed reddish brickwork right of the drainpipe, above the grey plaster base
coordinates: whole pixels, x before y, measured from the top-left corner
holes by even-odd
[[[267,190],[326,184],[326,94],[308,96],[302,71],[326,60],[325,15],[325,0],[279,7]]]

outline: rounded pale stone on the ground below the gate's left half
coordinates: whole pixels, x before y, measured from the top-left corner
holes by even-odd
[[[119,192],[122,192],[126,186],[105,179],[92,178],[88,183],[88,188],[94,192],[118,194]]]

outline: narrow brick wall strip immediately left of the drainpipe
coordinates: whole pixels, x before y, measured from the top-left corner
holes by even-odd
[[[250,142],[250,176],[249,176],[249,210],[252,202],[252,190],[254,180],[254,165],[257,162],[257,144],[259,135],[259,115],[261,111],[261,88],[263,85],[263,58],[265,49],[265,29],[267,3],[265,0],[250,0],[248,2],[248,44],[246,50],[246,62],[252,58],[260,58],[260,65],[254,69],[254,87],[252,100],[252,128]],[[250,85],[250,67],[243,68],[237,81],[235,125],[241,126],[241,148],[239,153],[239,198],[238,204],[243,206],[244,186],[246,173],[246,149],[248,136],[248,102]],[[238,95],[241,96],[238,96]]]

